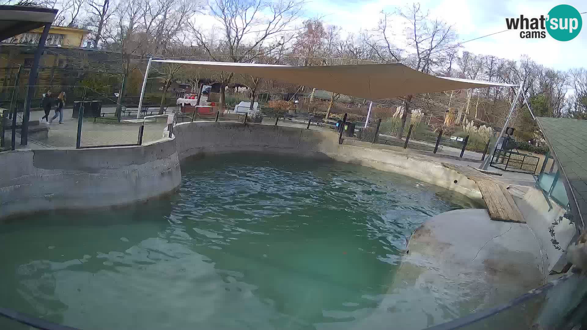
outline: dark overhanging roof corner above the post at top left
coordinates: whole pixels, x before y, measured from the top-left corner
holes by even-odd
[[[0,40],[52,23],[57,9],[33,6],[0,6]]]

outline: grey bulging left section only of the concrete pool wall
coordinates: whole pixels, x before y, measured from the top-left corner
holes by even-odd
[[[0,218],[35,211],[116,206],[175,190],[173,139],[143,146],[16,150],[0,154]]]

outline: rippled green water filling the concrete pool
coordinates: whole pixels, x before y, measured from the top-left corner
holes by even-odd
[[[80,329],[393,328],[426,294],[392,290],[406,238],[475,207],[409,177],[296,157],[207,157],[182,173],[162,200],[0,224],[0,307]],[[380,312],[383,299],[397,308]],[[444,315],[434,323],[458,314],[439,304],[425,311]],[[12,328],[26,329],[0,318]]]

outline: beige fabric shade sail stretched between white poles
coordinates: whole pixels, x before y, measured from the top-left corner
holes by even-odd
[[[515,86],[507,83],[431,76],[401,63],[289,66],[191,60],[153,60],[153,62],[182,63],[211,70],[234,72],[239,75],[274,79],[369,100],[446,90]]]

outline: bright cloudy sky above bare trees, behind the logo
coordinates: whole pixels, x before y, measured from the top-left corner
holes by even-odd
[[[410,2],[411,4],[411,2]],[[467,0],[423,0],[421,8],[429,9],[430,18],[441,18],[456,27],[459,41],[467,41],[507,28],[505,18],[539,17],[548,14],[552,7],[560,4],[574,6],[579,12],[587,12],[587,1],[467,1]],[[323,21],[340,26],[349,32],[373,29],[377,26],[379,12],[393,11],[407,5],[405,0],[309,0],[305,6],[306,16],[323,16]],[[587,14],[583,14],[583,21]],[[401,31],[402,23],[395,29]],[[495,55],[500,58],[519,59],[528,55],[545,66],[559,70],[587,66],[587,28],[572,41],[560,42],[548,33],[545,39],[521,39],[519,31],[506,31],[494,36],[464,43],[463,50],[472,53]],[[404,42],[402,36],[398,43]]]

